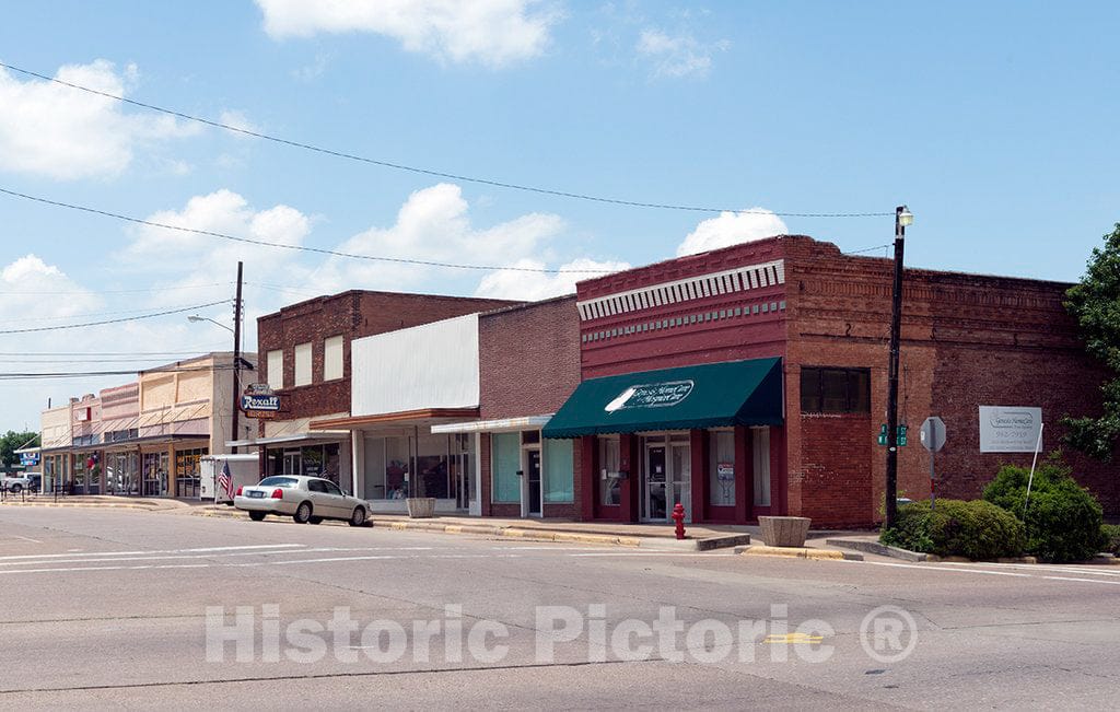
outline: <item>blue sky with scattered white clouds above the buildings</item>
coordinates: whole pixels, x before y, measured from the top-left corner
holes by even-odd
[[[0,62],[449,174],[735,210],[907,203],[908,264],[1073,281],[1120,219],[1118,26],[1113,2],[45,1],[6,3]],[[861,250],[893,231],[889,217],[721,216],[442,180],[15,72],[0,74],[0,187],[286,244],[498,266],[617,269],[775,231]],[[0,210],[8,330],[215,301],[237,259],[250,344],[253,317],[324,292],[535,298],[577,279],[324,260],[6,196]],[[226,306],[200,312],[230,321]],[[183,313],[6,335],[0,372],[132,368],[143,364],[65,359],[138,352],[151,365],[227,336]],[[12,355],[29,350],[67,355]],[[0,381],[0,428],[34,428],[47,397],[127,380]]]

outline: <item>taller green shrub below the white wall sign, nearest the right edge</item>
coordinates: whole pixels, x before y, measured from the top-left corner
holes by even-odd
[[[1096,498],[1070,477],[1072,470],[1051,455],[1035,471],[1026,502],[1030,469],[1004,466],[983,490],[983,498],[1018,517],[1027,535],[1027,552],[1044,561],[1083,561],[1103,545],[1104,513]]]

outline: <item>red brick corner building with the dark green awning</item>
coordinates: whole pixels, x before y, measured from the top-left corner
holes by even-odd
[[[584,383],[544,430],[579,440],[579,515],[664,521],[682,502],[703,522],[880,518],[892,270],[890,260],[780,236],[581,282]],[[913,434],[900,451],[900,495],[930,494],[917,442],[927,415],[948,425],[939,493],[976,497],[1002,462],[1030,461],[981,452],[980,406],[1040,409],[1044,451],[1058,446],[1062,415],[1099,409],[1103,374],[1062,307],[1067,288],[906,271],[899,412]],[[775,363],[780,394],[759,396],[773,388],[764,372]],[[711,367],[719,364],[737,366]],[[740,372],[730,377],[732,367]],[[693,413],[706,423],[698,427],[671,416],[726,401],[721,390],[741,390],[744,378],[757,393],[738,393],[741,407]],[[1114,469],[1068,455],[1105,508],[1120,509]]]

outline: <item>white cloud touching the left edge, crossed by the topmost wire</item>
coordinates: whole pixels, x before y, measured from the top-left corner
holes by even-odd
[[[123,96],[137,81],[134,65],[65,65],[56,78]],[[0,69],[0,170],[73,180],[111,177],[132,162],[138,147],[197,133],[171,116],[125,114],[115,100],[41,79],[20,82]]]

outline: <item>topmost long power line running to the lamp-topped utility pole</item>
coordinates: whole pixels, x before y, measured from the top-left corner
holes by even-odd
[[[250,135],[255,139],[263,139],[265,141],[272,141],[273,143],[280,143],[283,146],[289,146],[292,148],[299,148],[307,151],[315,151],[317,153],[324,153],[326,156],[333,156],[335,158],[344,158],[352,161],[358,161],[362,163],[370,163],[373,166],[381,166],[382,168],[392,168],[393,170],[401,170],[412,174],[419,174],[422,176],[431,176],[435,178],[447,178],[449,180],[459,180],[463,182],[474,182],[484,186],[493,186],[495,188],[507,188],[510,190],[523,190],[525,193],[536,193],[540,195],[551,195],[561,198],[572,198],[576,200],[588,200],[592,203],[606,203],[608,205],[623,205],[627,207],[642,207],[642,208],[657,208],[664,210],[688,210],[693,213],[752,213],[759,215],[778,215],[781,217],[885,217],[894,215],[894,213],[772,213],[771,210],[737,210],[735,208],[717,208],[717,207],[702,207],[694,205],[673,205],[668,203],[644,203],[641,200],[623,200],[619,198],[606,198],[603,196],[595,196],[584,193],[571,193],[568,190],[553,190],[551,188],[540,188],[535,186],[526,186],[515,182],[507,182],[504,180],[492,180],[489,178],[475,178],[472,176],[464,176],[458,174],[450,174],[440,170],[432,170],[429,168],[418,168],[416,166],[407,166],[404,163],[394,163],[391,161],[385,161],[375,158],[368,158],[365,156],[357,156],[356,153],[347,153],[345,151],[338,151],[334,149],[323,148],[320,146],[315,146],[312,143],[302,143],[300,141],[292,141],[290,139],[283,139],[280,137],[271,135],[268,133],[261,133],[259,131],[253,131],[251,129],[245,129],[244,127],[234,127],[227,123],[222,123],[221,121],[212,121],[209,119],[204,119],[202,116],[195,116],[192,114],[186,114],[180,111],[175,111],[171,109],[165,109],[162,106],[157,106],[156,104],[146,104],[143,102],[138,102],[132,99],[127,99],[118,94],[110,94],[109,92],[102,92],[100,90],[91,88],[88,86],[83,86],[81,84],[74,84],[73,82],[65,82],[57,77],[47,76],[45,74],[39,74],[37,72],[31,72],[30,69],[22,69],[20,67],[4,64],[0,62],[0,67],[11,69],[12,72],[18,72],[26,76],[34,76],[39,79],[45,79],[47,82],[53,82],[54,84],[59,84],[62,86],[68,86],[69,88],[78,90],[96,96],[104,96],[105,99],[112,99],[118,102],[125,104],[131,104],[133,106],[139,106],[141,109],[147,109],[149,111],[156,111],[170,116],[177,116],[186,121],[194,121],[196,123],[206,124],[208,127],[214,127],[216,129],[223,129],[225,131],[232,131],[234,133],[241,133],[244,135]]]

